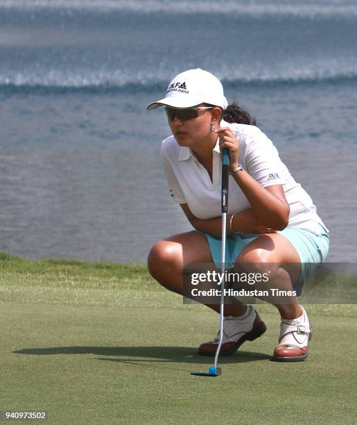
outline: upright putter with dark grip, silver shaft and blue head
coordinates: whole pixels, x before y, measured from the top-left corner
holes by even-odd
[[[227,210],[228,210],[228,181],[229,181],[229,150],[223,149],[222,155],[222,264],[220,271],[223,276],[223,281],[220,287],[220,340],[216,349],[216,355],[214,356],[214,366],[209,368],[209,372],[191,372],[191,375],[196,376],[219,376],[222,375],[222,368],[218,367],[218,356],[220,353],[220,347],[223,341],[223,320],[225,318],[225,238],[226,238],[226,222],[227,222]]]

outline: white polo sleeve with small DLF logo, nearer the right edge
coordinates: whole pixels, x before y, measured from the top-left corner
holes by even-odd
[[[286,172],[277,148],[259,131],[245,142],[245,169],[263,188],[284,185]]]

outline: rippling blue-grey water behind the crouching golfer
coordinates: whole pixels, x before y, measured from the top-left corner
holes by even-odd
[[[191,228],[158,158],[178,72],[256,116],[356,261],[355,1],[0,0],[0,250],[144,261]]]

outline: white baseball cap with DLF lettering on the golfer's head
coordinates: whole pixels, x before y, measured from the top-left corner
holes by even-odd
[[[223,93],[223,85],[210,72],[203,69],[189,69],[173,78],[166,90],[166,97],[150,103],[148,110],[160,106],[172,106],[173,108],[191,108],[209,103],[210,105],[227,108],[228,102]]]

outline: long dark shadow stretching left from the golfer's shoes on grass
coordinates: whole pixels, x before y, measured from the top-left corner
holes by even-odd
[[[123,363],[189,363],[207,364],[213,363],[213,357],[198,356],[197,349],[189,347],[49,347],[33,348],[12,351],[16,354],[31,354],[35,356],[48,356],[54,354],[95,354],[96,356],[116,356],[121,358],[98,358]],[[247,363],[259,360],[268,360],[270,356],[265,353],[254,351],[237,351],[234,356],[220,356],[220,364]],[[137,363],[139,362],[139,363]]]

